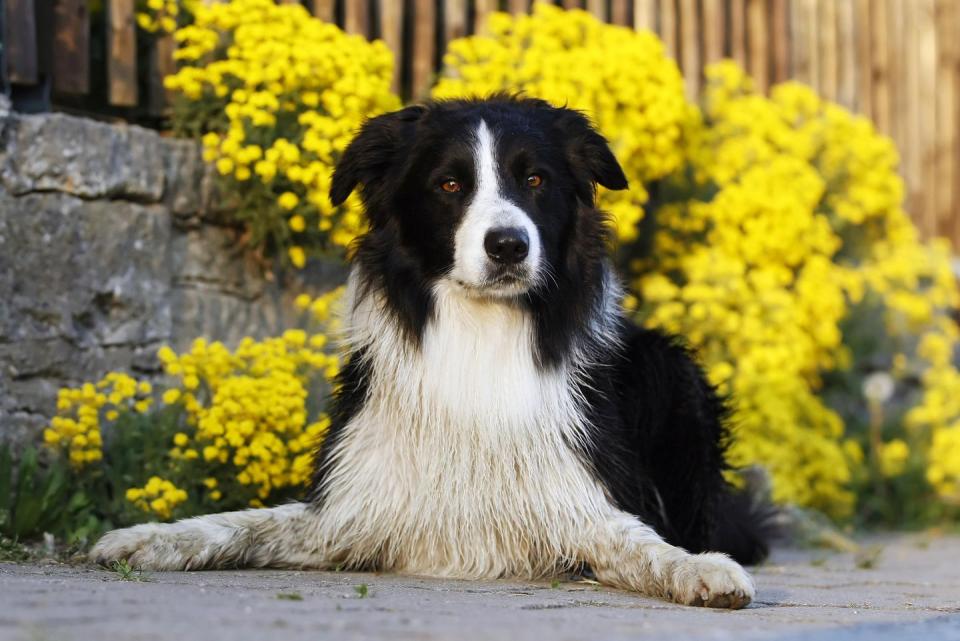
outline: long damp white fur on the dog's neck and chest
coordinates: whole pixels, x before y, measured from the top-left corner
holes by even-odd
[[[609,503],[571,449],[588,428],[570,373],[537,368],[526,314],[440,289],[419,349],[372,296],[351,316],[373,377],[325,486],[335,556],[460,577],[571,560]]]

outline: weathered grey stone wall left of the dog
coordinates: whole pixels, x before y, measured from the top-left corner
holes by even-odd
[[[265,274],[214,182],[192,142],[0,102],[0,442],[37,438],[61,386],[156,377],[163,344],[278,333],[296,294],[344,278]]]

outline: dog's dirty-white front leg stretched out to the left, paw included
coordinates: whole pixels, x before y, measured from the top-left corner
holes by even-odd
[[[144,523],[108,532],[90,551],[106,565],[145,570],[235,567],[322,569],[331,564],[319,515],[306,503]]]

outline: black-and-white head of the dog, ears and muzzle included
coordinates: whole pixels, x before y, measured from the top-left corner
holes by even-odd
[[[387,233],[425,279],[513,297],[562,271],[578,227],[599,218],[596,185],[627,180],[579,112],[495,97],[408,107],[369,120],[333,176],[358,186],[371,233]]]

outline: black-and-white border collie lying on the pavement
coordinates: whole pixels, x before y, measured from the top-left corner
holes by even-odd
[[[763,510],[724,481],[724,405],[678,342],[625,318],[576,111],[494,96],[369,120],[347,361],[305,502],[110,532],[91,558],[538,578],[588,567],[689,605],[754,597]],[[731,558],[732,557],[732,558]],[[736,561],[734,560],[736,559]]]

